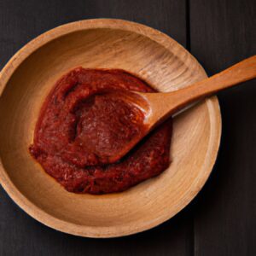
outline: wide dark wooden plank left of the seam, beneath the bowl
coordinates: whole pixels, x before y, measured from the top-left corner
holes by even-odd
[[[17,49],[38,34],[70,21],[89,18],[135,20],[167,32],[179,43],[186,44],[185,1],[12,0],[0,1],[0,7],[1,67]],[[154,230],[108,241],[51,230],[20,211],[3,189],[0,207],[0,253],[3,255],[190,255],[193,249],[191,207]]]

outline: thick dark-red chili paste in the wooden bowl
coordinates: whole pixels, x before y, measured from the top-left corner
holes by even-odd
[[[40,111],[30,153],[68,191],[124,191],[169,166],[172,119],[109,163],[143,132],[144,119],[139,108],[109,90],[154,91],[123,70],[79,67],[55,84]]]

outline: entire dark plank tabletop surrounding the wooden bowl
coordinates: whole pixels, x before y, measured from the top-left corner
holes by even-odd
[[[134,20],[183,44],[217,73],[256,54],[255,0],[0,0],[0,68],[32,38],[92,18]],[[69,236],[26,215],[0,189],[0,255],[256,255],[256,81],[218,94],[223,135],[201,193],[153,230]]]

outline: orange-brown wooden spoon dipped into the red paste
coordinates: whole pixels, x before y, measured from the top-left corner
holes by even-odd
[[[209,79],[190,85],[181,90],[167,93],[141,93],[125,94],[125,99],[131,101],[145,113],[143,132],[122,148],[119,155],[111,160],[118,160],[133,148],[156,125],[177,113],[181,108],[188,106],[206,96],[256,78],[256,55],[229,67]],[[124,96],[122,96],[124,97]]]

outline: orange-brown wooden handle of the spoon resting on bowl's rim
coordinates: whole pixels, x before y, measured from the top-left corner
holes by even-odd
[[[186,88],[167,93],[145,93],[151,111],[147,122],[152,128],[168,116],[177,113],[189,103],[256,78],[256,55]],[[151,127],[152,126],[152,127]]]

